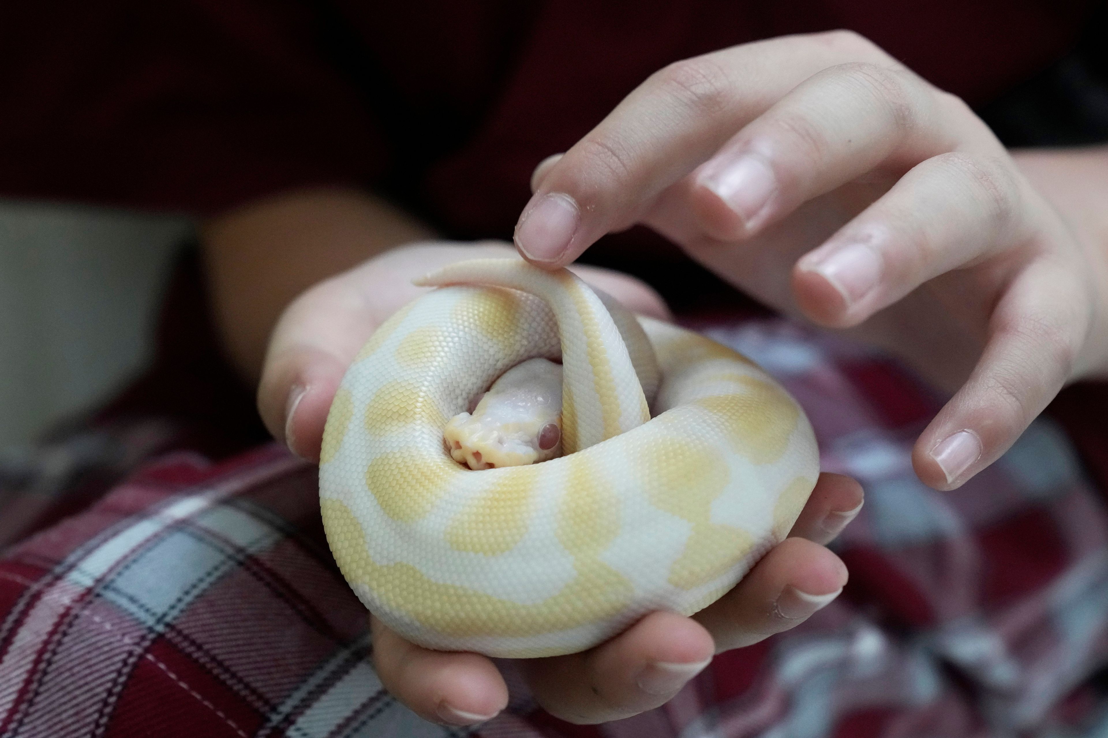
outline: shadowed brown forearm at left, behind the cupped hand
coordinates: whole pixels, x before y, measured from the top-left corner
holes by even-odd
[[[228,358],[248,381],[269,333],[305,289],[431,230],[352,189],[287,193],[227,212],[201,231],[213,313]]]

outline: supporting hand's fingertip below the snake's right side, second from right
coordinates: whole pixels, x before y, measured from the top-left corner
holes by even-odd
[[[716,652],[749,646],[788,631],[839,596],[847,567],[818,543],[788,538],[762,557],[733,590],[696,615]]]

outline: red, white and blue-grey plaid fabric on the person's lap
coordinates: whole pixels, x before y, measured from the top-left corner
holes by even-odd
[[[324,540],[315,469],[268,446],[219,464],[162,456],[7,550],[0,737],[1108,731],[1094,678],[1108,663],[1108,516],[1056,426],[1037,422],[964,488],[936,492],[909,458],[936,404],[893,366],[778,320],[701,328],[798,397],[824,468],[859,478],[866,505],[837,544],[851,572],[844,594],[789,633],[718,656],[665,707],[567,725],[505,662],[503,715],[476,730],[420,720],[369,665],[365,612]],[[115,439],[101,439],[116,449],[111,468],[164,450],[156,425],[127,427],[89,432]],[[57,472],[74,448],[60,441],[21,459],[19,475],[0,474],[0,519],[20,505],[40,521],[52,505],[72,508],[57,481],[69,477],[43,480],[45,459]]]

